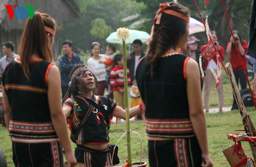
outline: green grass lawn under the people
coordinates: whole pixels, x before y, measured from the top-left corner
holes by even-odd
[[[214,87],[214,86],[212,86]],[[224,85],[224,95],[225,95],[225,106],[231,107],[232,105],[232,91],[231,86],[229,84]],[[212,88],[211,95],[210,95],[210,108],[217,108],[218,101],[216,90]],[[255,109],[253,107],[246,108],[248,114],[251,117],[252,122],[256,123],[256,113],[254,112]],[[222,150],[226,149],[230,145],[233,144],[232,140],[227,139],[228,134],[236,134],[236,133],[243,133],[233,131],[234,129],[243,129],[243,124],[241,120],[241,116],[238,110],[233,110],[230,112],[219,112],[219,113],[207,113],[206,114],[207,120],[207,135],[208,135],[208,143],[209,143],[209,150],[211,157],[214,161],[215,166],[229,166]],[[148,163],[147,158],[147,137],[145,133],[145,124],[143,121],[131,121],[130,122],[131,129],[139,127],[135,129],[136,132],[140,133],[142,136],[142,161]],[[111,144],[116,144],[117,140],[123,132],[117,132],[125,130],[125,123],[119,123],[117,128],[115,127],[115,123],[112,123],[111,130],[110,130],[110,138]],[[140,139],[137,134],[131,134],[131,148],[132,148],[132,158],[133,162],[140,161]],[[0,127],[0,147],[4,151],[4,154],[7,159],[8,166],[14,166],[12,162],[12,151],[11,151],[11,140],[8,136],[7,129],[5,127]],[[120,140],[119,144],[119,151],[118,156],[120,158],[120,164],[125,165],[125,159],[127,159],[126,153],[126,137],[124,136],[123,139]],[[242,142],[242,147],[245,150],[247,156],[252,157],[250,147],[247,142]],[[75,145],[73,144],[73,149]],[[147,165],[149,166],[149,165]]]

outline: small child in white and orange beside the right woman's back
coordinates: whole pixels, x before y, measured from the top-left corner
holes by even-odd
[[[134,77],[132,80],[133,85],[130,88],[130,96],[132,97],[132,103],[131,103],[131,107],[137,106],[140,104],[141,100],[140,100],[140,92],[137,86],[137,81],[136,78]],[[141,120],[141,118],[143,118],[144,120],[144,116],[141,112],[141,116],[140,119],[138,118],[139,115],[136,115],[134,118],[134,120]]]

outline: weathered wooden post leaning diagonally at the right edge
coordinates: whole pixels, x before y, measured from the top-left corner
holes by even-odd
[[[236,82],[236,79],[234,78],[233,69],[231,67],[230,63],[226,63],[226,69],[227,69],[227,76],[230,81],[230,84],[233,89],[234,98],[236,98],[238,109],[240,111],[242,122],[244,124],[245,132],[248,133],[247,136],[254,136],[255,128],[252,124],[250,116],[247,114],[243,100],[241,98],[241,94],[238,89],[238,85]],[[249,142],[251,152],[253,155],[254,163],[256,162],[256,143],[255,142]]]

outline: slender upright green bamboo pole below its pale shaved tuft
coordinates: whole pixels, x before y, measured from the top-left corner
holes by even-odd
[[[128,108],[128,85],[127,85],[127,58],[125,41],[123,41],[123,71],[124,71],[124,99],[125,99],[125,120],[126,120],[126,136],[127,136],[127,154],[128,163],[132,164],[132,153],[131,153],[131,133],[130,133],[130,117]]]

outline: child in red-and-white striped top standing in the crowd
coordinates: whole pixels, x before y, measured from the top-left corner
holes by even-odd
[[[115,55],[114,63],[115,67],[111,70],[110,73],[110,83],[113,88],[115,101],[118,103],[118,106],[125,109],[123,55]],[[130,85],[130,83],[130,71],[127,68],[127,84]]]

